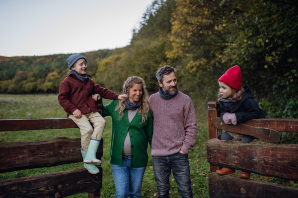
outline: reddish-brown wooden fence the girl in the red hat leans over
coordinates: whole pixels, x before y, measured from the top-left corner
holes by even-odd
[[[211,198],[298,198],[296,187],[215,173],[221,167],[226,167],[298,181],[298,145],[275,144],[280,140],[279,132],[298,132],[298,119],[256,119],[237,125],[225,125],[219,117],[219,102],[208,102],[209,196]],[[223,130],[256,135],[269,143],[220,140]]]

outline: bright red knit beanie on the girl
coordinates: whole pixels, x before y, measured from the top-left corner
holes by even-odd
[[[240,90],[242,86],[242,74],[240,68],[237,65],[229,68],[224,75],[221,76],[219,81],[224,82],[231,88]]]

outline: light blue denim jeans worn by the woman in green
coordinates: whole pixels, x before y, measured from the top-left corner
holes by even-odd
[[[122,166],[111,164],[116,187],[115,198],[141,198],[142,181],[146,167],[131,168],[131,156],[122,157]]]

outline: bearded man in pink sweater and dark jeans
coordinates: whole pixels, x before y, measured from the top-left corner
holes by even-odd
[[[153,117],[152,163],[157,197],[169,198],[171,171],[182,198],[193,198],[188,150],[197,137],[195,108],[177,89],[175,68],[165,65],[156,72],[159,92],[149,98]]]

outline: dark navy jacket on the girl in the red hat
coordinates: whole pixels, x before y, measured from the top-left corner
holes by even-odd
[[[245,91],[242,95],[242,99],[234,102],[231,109],[225,106],[223,101],[220,101],[222,119],[224,113],[235,113],[237,123],[245,122],[250,119],[265,118],[263,110],[259,107],[258,100],[254,99],[248,85],[245,85],[243,89]]]

